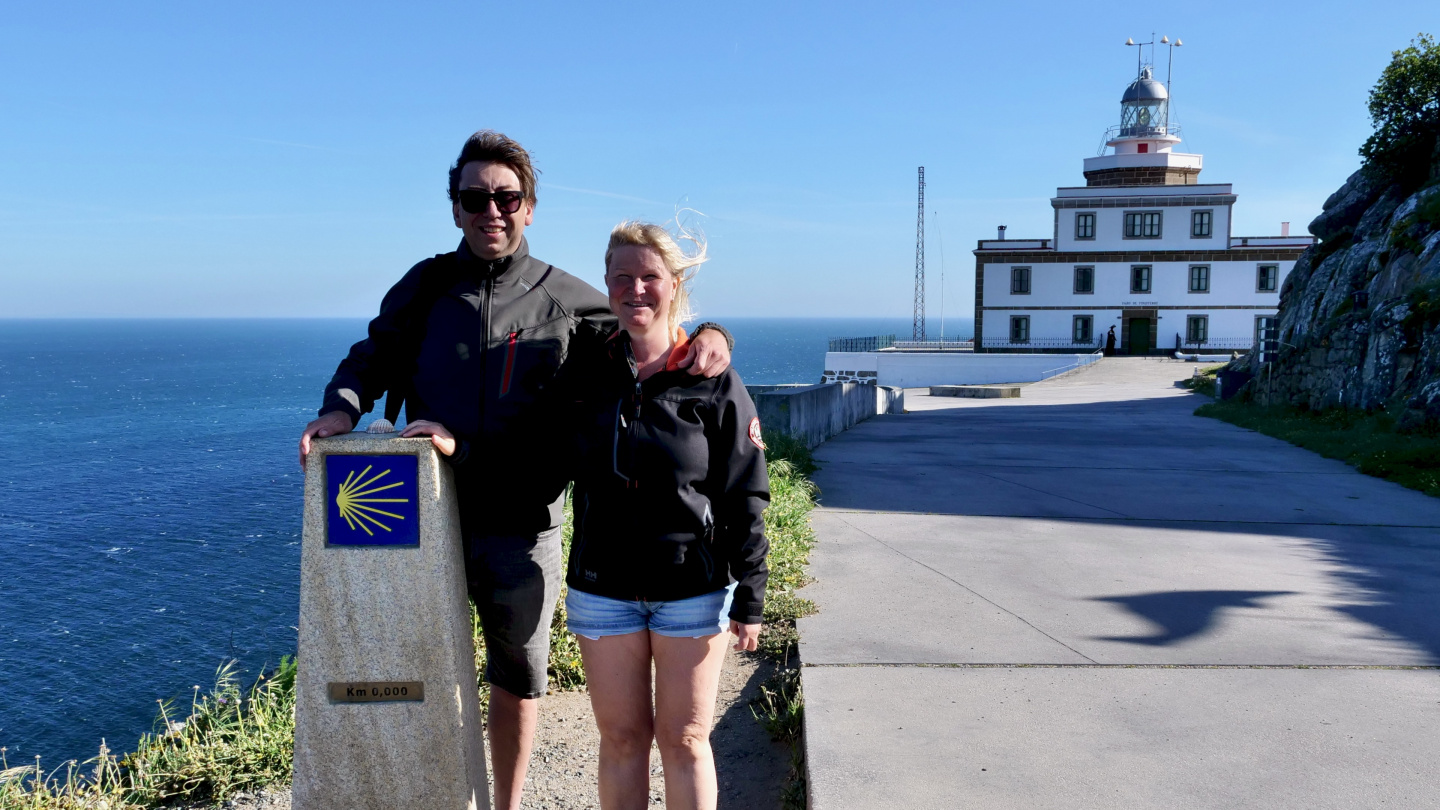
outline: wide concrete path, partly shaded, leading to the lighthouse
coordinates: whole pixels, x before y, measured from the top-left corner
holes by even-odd
[[[1192,368],[821,445],[814,810],[1440,807],[1440,499],[1194,417]]]

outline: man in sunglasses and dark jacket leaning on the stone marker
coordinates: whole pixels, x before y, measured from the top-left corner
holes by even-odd
[[[518,143],[488,130],[471,135],[451,167],[449,199],[464,239],[384,295],[370,336],[325,386],[300,457],[304,466],[312,437],[353,430],[389,392],[392,421],[405,402],[400,435],[429,435],[454,466],[465,574],[485,636],[495,807],[514,810],[562,577],[564,481],[550,471],[556,428],[544,424],[540,396],[567,356],[589,353],[616,321],[605,294],[530,257],[536,177]],[[730,365],[729,336],[698,326],[681,365],[719,375]]]

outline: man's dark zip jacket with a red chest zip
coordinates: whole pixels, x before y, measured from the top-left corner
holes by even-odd
[[[539,535],[560,525],[564,480],[536,406],[572,350],[595,356],[615,330],[605,295],[530,257],[484,261],[462,239],[386,293],[370,336],[350,347],[320,414],[359,422],[386,392],[406,419],[441,422],[458,440],[455,467],[467,535]]]

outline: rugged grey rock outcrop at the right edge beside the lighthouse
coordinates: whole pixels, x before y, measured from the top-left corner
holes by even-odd
[[[1280,290],[1277,359],[1234,363],[1257,375],[1243,396],[1440,430],[1440,161],[1407,180],[1362,169],[1325,200]]]

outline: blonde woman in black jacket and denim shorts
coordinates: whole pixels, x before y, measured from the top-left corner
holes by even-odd
[[[566,611],[600,729],[605,810],[647,806],[652,739],[665,806],[716,806],[726,631],[736,650],[755,650],[760,631],[770,491],[755,404],[733,369],[698,379],[675,366],[687,282],[706,261],[693,242],[687,255],[658,225],[615,228],[605,285],[621,331],[602,360],[570,363],[564,383],[579,392]]]

